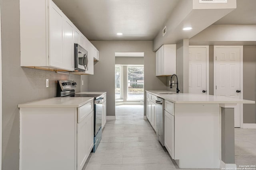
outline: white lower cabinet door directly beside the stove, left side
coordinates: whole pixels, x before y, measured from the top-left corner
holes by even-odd
[[[94,144],[93,138],[94,138],[94,111],[92,111],[87,117],[86,117],[86,150],[88,153],[88,156],[90,152],[92,151],[92,147]],[[87,159],[87,158],[86,158]]]

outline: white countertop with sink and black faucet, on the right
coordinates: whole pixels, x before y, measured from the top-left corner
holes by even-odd
[[[146,90],[146,92],[176,104],[255,104],[255,101],[252,100],[226,98],[223,96],[213,96],[208,94],[177,94],[175,92],[173,94],[160,94],[164,92],[171,92],[167,90]]]

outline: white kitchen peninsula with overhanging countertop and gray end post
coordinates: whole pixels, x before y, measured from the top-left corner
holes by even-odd
[[[236,167],[234,107],[254,101],[206,94],[166,94],[171,92],[163,90],[146,92],[147,99],[157,96],[165,100],[164,145],[180,168]]]

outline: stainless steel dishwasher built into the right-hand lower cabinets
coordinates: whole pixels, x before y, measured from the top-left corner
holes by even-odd
[[[164,146],[164,99],[155,98],[156,104],[156,135],[158,140]]]

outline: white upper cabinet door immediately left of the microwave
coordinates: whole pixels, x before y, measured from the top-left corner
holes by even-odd
[[[74,70],[74,28],[68,18],[63,21],[63,66]]]

